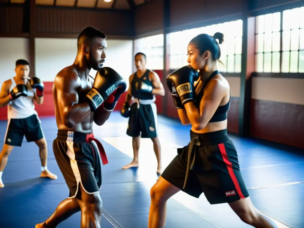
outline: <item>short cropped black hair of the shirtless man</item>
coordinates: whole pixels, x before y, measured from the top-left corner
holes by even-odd
[[[80,50],[83,44],[89,45],[95,38],[106,39],[105,33],[92,26],[85,27],[78,36],[77,49]]]

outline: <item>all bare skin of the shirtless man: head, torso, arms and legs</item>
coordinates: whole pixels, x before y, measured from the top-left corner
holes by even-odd
[[[90,26],[86,27],[85,30],[84,33],[89,34],[97,31]],[[105,36],[102,32],[99,31],[99,33],[100,36]],[[85,36],[88,35],[83,35],[78,40],[78,52],[74,63],[56,75],[53,97],[58,130],[90,134],[93,122],[101,126],[110,115],[110,112],[106,111],[103,105],[91,112],[86,98],[94,83],[89,72],[91,69],[98,71],[102,68],[107,44],[105,38],[87,39],[88,37],[85,38]],[[79,191],[81,199],[64,199],[45,222],[36,224],[35,227],[57,227],[65,219],[79,211],[81,211],[81,228],[100,227],[102,200],[99,192],[89,194],[81,185],[79,185]]]

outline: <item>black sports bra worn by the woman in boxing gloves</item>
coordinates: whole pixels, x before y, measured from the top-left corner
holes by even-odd
[[[202,97],[204,95],[204,89],[206,88],[206,85],[208,85],[209,81],[211,81],[211,79],[216,75],[219,74],[219,71],[214,71],[210,77],[206,80],[205,84],[203,85],[201,91],[195,96],[195,105],[199,108],[199,105],[201,103]],[[199,81],[201,81],[201,79],[199,79]],[[197,88],[197,86],[199,85],[199,81],[196,83],[194,90]],[[214,115],[212,116],[212,118],[210,119],[209,123],[214,123],[214,122],[220,122],[223,120],[227,119],[227,112],[230,108],[230,97],[229,97],[229,101],[226,105],[222,105],[219,106]]]

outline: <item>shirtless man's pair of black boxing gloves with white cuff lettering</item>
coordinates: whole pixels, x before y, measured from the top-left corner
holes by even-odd
[[[92,89],[86,95],[91,111],[94,112],[103,103],[105,110],[112,111],[126,87],[126,81],[115,70],[101,68],[96,73]]]

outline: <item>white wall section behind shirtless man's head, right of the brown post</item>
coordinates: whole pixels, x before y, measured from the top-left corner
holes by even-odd
[[[133,41],[107,40],[104,66],[112,67],[126,81],[132,74]],[[54,81],[56,74],[66,66],[73,64],[77,54],[77,39],[35,39],[36,77],[43,81]],[[93,69],[90,75],[95,77]]]

